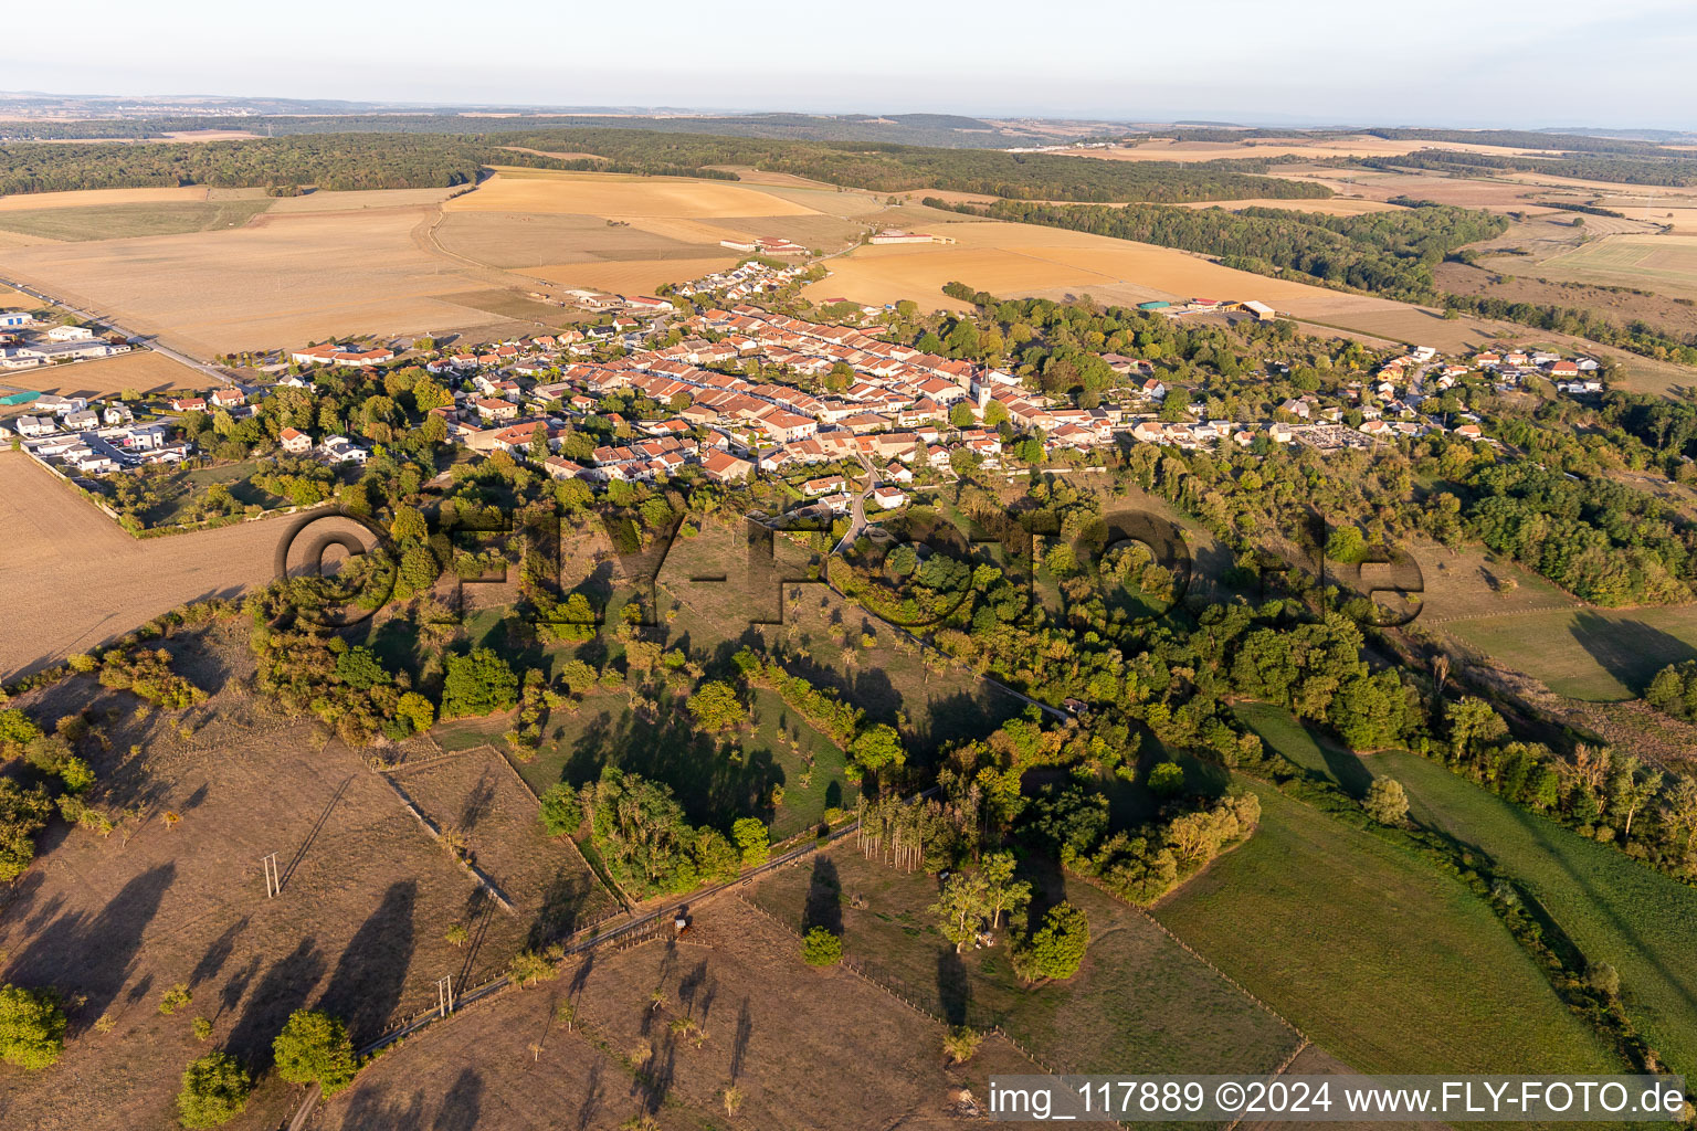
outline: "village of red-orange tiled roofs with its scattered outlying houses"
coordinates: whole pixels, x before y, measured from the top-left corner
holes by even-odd
[[[762,251],[770,248],[762,244]],[[429,415],[441,417],[446,439],[468,453],[502,451],[553,478],[591,483],[655,482],[696,468],[708,480],[735,485],[759,473],[792,480],[798,512],[847,514],[855,504],[852,490],[874,509],[896,509],[913,497],[916,480],[937,485],[955,478],[961,458],[976,468],[1003,468],[1005,446],[1013,441],[1020,443],[1018,466],[1030,463],[1032,439],[1042,460],[1079,466],[1122,443],[1186,449],[1308,444],[1329,451],[1444,431],[1493,443],[1471,412],[1422,407],[1468,375],[1498,390],[1541,376],[1568,395],[1602,392],[1590,358],[1481,351],[1446,359],[1422,346],[1381,361],[1369,380],[1346,383],[1341,398],[1305,393],[1278,404],[1271,419],[1201,419],[1188,409],[1162,410],[1168,387],[1152,361],[1108,353],[1101,359],[1120,378],[1115,397],[1083,409],[1027,388],[1008,370],[888,341],[876,322],[823,324],[745,302],[782,292],[803,275],[796,265],[750,259],[679,285],[674,297],[572,292],[570,298],[601,320],[477,346],[305,346],[278,354],[270,380],[231,382],[154,404],[36,395],[25,414],[0,424],[0,432],[61,475],[122,475],[195,458],[195,443],[185,436],[190,429],[182,427],[188,414],[239,421],[275,390],[311,388],[314,370],[378,371],[407,363],[421,365],[451,392],[451,404],[429,409]],[[1171,319],[1274,317],[1254,300],[1147,302],[1140,309]],[[881,309],[864,307],[845,317],[869,322],[877,314]],[[59,329],[66,327],[46,331],[54,344],[129,348],[81,327],[71,334]],[[662,339],[672,344],[657,344]],[[609,395],[641,397],[665,412],[626,419],[602,409]],[[616,443],[568,458],[562,437],[585,421]],[[360,466],[372,456],[358,437],[312,436],[297,427],[280,431],[277,451],[331,466]],[[855,488],[860,471],[865,485]]]

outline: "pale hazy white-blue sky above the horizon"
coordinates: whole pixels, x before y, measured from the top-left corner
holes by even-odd
[[[1697,129],[1694,0],[85,0],[0,90]]]

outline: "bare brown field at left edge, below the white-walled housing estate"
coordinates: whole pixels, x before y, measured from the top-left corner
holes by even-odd
[[[0,451],[0,678],[122,636],[185,602],[272,580],[277,549],[297,521],[137,541],[29,456]],[[363,532],[344,519],[321,522],[295,544],[329,529]]]

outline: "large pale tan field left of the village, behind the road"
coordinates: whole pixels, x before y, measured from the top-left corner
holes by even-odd
[[[22,248],[7,270],[199,356],[487,326],[441,295],[518,280],[433,253],[414,231],[433,214],[266,214],[231,231]]]

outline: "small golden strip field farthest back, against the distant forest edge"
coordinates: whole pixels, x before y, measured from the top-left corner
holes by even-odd
[[[563,212],[602,217],[709,219],[720,215],[808,215],[813,209],[731,181],[623,173],[501,170],[477,192],[443,203],[445,212]]]

